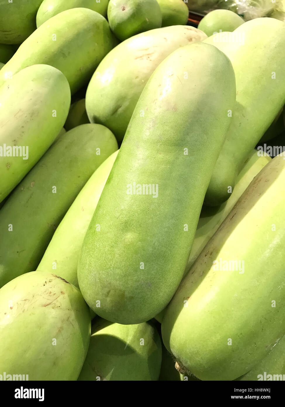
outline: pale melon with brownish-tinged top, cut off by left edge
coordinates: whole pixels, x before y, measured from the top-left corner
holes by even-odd
[[[2,85],[0,106],[1,202],[59,134],[70,108],[70,87],[52,66],[30,66]]]

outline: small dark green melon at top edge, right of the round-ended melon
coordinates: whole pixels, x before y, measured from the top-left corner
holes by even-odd
[[[188,7],[183,0],[157,0],[162,13],[162,27],[186,25]]]

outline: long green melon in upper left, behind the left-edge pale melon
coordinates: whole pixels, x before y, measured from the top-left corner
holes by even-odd
[[[102,15],[84,8],[63,11],[37,28],[18,48],[0,71],[0,85],[26,66],[46,63],[61,70],[73,94],[89,81],[113,46],[113,34]]]

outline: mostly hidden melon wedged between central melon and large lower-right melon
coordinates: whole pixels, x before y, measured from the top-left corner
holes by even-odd
[[[244,193],[252,179],[262,170],[262,168],[270,162],[271,158],[268,155],[259,156],[257,150],[253,150],[250,157],[246,161],[244,168],[237,177],[237,184],[229,199],[221,206],[211,207],[203,206],[194,241],[191,247],[191,252],[187,266],[185,267],[184,276],[188,273],[196,258],[202,252],[205,245],[211,239],[213,234],[219,228],[221,223],[226,219],[227,215],[233,209],[239,197]],[[162,323],[166,308],[155,316],[155,319]]]

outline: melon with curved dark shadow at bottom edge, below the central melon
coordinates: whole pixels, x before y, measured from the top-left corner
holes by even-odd
[[[152,324],[120,325],[100,318],[92,325],[78,380],[156,381],[160,367],[161,340]]]

